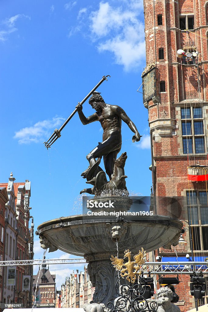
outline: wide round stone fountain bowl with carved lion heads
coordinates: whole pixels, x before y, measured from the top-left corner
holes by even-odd
[[[91,262],[109,260],[111,254],[115,255],[116,240],[119,254],[125,249],[136,254],[141,247],[147,252],[155,250],[179,238],[182,225],[179,220],[158,215],[122,218],[76,215],[44,222],[36,234],[56,248],[84,256]]]

